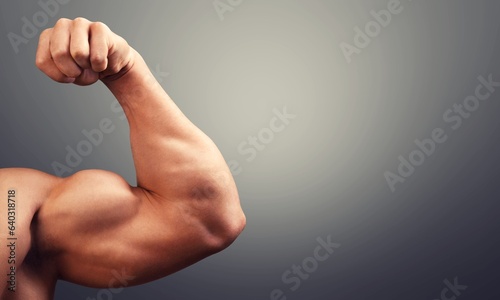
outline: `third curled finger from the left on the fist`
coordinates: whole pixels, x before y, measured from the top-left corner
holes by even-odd
[[[82,69],[91,68],[89,27],[90,21],[84,18],[76,18],[71,26],[70,54]]]

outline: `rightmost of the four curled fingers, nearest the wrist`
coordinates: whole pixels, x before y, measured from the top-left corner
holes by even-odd
[[[109,37],[111,30],[101,22],[90,25],[90,64],[94,72],[108,67]]]

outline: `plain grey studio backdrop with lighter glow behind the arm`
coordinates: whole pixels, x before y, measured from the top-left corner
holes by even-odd
[[[112,290],[60,282],[56,299],[499,299],[500,2],[0,9],[0,167],[99,168],[135,184],[112,95],[34,65],[39,32],[83,16],[126,38],[236,166],[248,217],[228,250],[168,278]],[[106,118],[113,132],[68,165]]]

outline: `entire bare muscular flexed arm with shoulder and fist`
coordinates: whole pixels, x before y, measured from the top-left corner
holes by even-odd
[[[1,299],[53,299],[58,280],[119,288],[168,276],[227,248],[246,219],[215,144],[102,23],[61,19],[36,64],[60,83],[103,82],[130,124],[137,186],[102,170],[59,178],[0,169]],[[16,191],[16,262],[8,262],[7,197]],[[7,243],[8,244],[8,243]],[[16,267],[15,292],[7,283]]]

